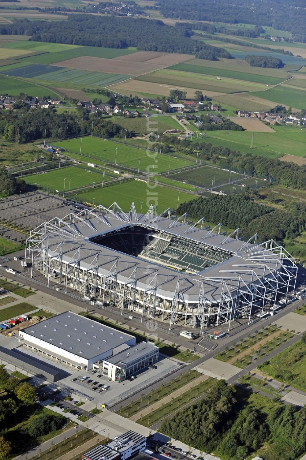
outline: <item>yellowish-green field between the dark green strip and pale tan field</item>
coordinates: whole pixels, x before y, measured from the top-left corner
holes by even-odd
[[[230,78],[222,78],[220,81],[211,75],[196,74],[192,72],[182,72],[179,70],[162,69],[155,72],[137,77],[135,80],[150,81],[166,85],[186,86],[199,90],[215,91],[222,93],[242,92],[263,90],[266,85]]]

